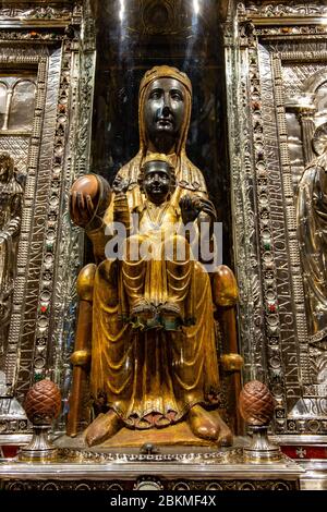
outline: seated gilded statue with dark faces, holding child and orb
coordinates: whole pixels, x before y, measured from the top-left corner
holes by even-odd
[[[201,257],[193,257],[187,235],[181,235],[183,225],[192,223],[198,236],[205,232],[210,237],[216,219],[204,178],[185,153],[191,99],[184,73],[168,65],[153,68],[140,87],[137,155],[118,172],[112,191],[95,174],[72,187],[71,216],[90,239],[96,264],[84,267],[77,282],[68,434],[77,432],[81,390],[89,379],[97,413],[85,431],[89,446],[124,427],[162,429],[169,444],[171,426],[180,424],[204,443],[231,442],[217,410],[214,315],[233,308],[238,289],[228,267],[208,273]],[[138,216],[137,229],[132,214]],[[113,221],[126,231],[121,258],[106,251]],[[167,240],[172,241],[168,257]],[[144,241],[147,254],[131,258],[131,246]],[[177,245],[183,243],[179,258]],[[221,318],[227,322],[222,330],[232,331],[231,317]],[[240,366],[241,357],[230,355],[234,367]]]

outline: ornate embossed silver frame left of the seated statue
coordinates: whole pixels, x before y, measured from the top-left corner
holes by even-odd
[[[38,73],[5,361],[8,389],[0,398],[4,435],[28,431],[13,403],[23,402],[33,381],[50,377],[63,390],[64,404],[68,400],[82,263],[81,232],[71,225],[68,199],[72,182],[89,164],[96,60],[89,9],[87,0],[33,8],[2,2],[0,9],[0,62],[33,65]]]

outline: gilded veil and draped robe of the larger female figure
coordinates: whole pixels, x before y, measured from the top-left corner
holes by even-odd
[[[143,109],[146,87],[159,76],[180,80],[187,90],[183,129],[175,153],[168,155],[177,178],[171,206],[177,208],[184,194],[207,198],[204,178],[185,154],[191,83],[177,70],[160,66],[150,70],[141,84],[140,151],[118,173],[129,182],[130,211],[142,208],[146,200],[137,182],[142,161],[149,153]],[[217,403],[219,378],[209,276],[201,263],[194,261],[192,282],[196,285],[191,293],[194,326],[182,327],[175,332],[155,329],[140,332],[124,324],[120,315],[120,263],[105,258],[105,229],[113,219],[113,200],[102,212],[108,190],[106,182],[98,180],[100,207],[86,227],[98,263],[93,302],[92,393],[95,398],[105,397],[108,407],[129,426],[166,426],[182,418],[197,403]]]

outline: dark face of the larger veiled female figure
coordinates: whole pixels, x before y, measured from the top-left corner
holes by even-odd
[[[158,78],[149,84],[144,123],[150,141],[161,135],[178,139],[185,115],[185,87],[174,78]]]

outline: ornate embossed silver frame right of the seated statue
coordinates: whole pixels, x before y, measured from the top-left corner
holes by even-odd
[[[239,4],[226,37],[245,379],[268,381],[282,435],[327,432],[326,386],[314,386],[310,371],[282,76],[287,62],[326,60],[326,7],[303,9]]]

